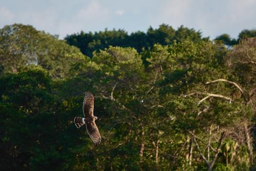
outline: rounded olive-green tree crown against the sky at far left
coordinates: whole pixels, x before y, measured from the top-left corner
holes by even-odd
[[[70,66],[83,58],[77,48],[32,26],[14,24],[0,29],[0,60],[5,72],[34,64],[47,69],[52,77],[63,78]]]

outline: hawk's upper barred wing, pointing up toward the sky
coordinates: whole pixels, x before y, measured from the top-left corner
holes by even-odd
[[[93,116],[93,105],[94,105],[94,97],[91,92],[86,92],[84,95],[82,110],[83,115],[86,117],[87,115]]]

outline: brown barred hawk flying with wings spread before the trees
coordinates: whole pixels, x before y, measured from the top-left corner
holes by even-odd
[[[94,144],[98,145],[101,142],[99,130],[95,124],[95,120],[98,118],[93,116],[94,97],[91,92],[86,92],[83,100],[83,115],[84,118],[75,117],[74,122],[77,128],[86,124],[87,132]]]

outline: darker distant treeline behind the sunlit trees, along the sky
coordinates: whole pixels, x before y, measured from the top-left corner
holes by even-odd
[[[240,32],[238,39],[232,39],[228,34],[221,34],[216,37],[216,40],[222,41],[225,45],[233,46],[238,44],[241,39],[255,36],[256,30],[243,30]],[[93,51],[103,50],[109,46],[133,47],[138,52],[141,52],[143,48],[152,48],[154,44],[172,45],[175,41],[179,43],[186,39],[199,42],[201,40],[209,40],[209,37],[202,37],[202,32],[193,28],[180,26],[175,30],[167,24],[162,24],[157,29],[150,27],[146,33],[137,31],[128,34],[123,29],[105,29],[94,33],[81,31],[65,37],[69,45],[78,47],[83,54],[90,57]]]

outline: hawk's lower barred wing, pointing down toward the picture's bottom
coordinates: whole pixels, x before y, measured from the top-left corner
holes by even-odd
[[[93,140],[94,144],[98,145],[101,142],[101,136],[99,130],[94,121],[86,123],[87,132],[90,138]]]

